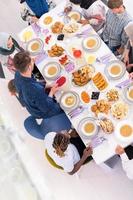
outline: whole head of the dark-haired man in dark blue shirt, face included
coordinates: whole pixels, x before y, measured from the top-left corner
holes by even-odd
[[[21,51],[14,56],[14,65],[21,74],[32,74],[34,69],[34,59],[30,57],[28,51]]]

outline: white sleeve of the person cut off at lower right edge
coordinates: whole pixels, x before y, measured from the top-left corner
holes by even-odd
[[[133,159],[129,160],[126,153],[121,155],[122,167],[129,179],[133,180]]]

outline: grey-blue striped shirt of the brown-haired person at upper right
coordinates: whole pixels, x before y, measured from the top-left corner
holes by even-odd
[[[128,37],[124,27],[132,21],[131,16],[124,11],[122,14],[114,14],[111,9],[106,14],[106,24],[102,33],[104,42],[108,42],[109,47],[122,46],[127,43]]]

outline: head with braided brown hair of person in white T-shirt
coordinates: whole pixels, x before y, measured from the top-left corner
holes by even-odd
[[[57,133],[54,137],[53,148],[55,149],[55,153],[59,157],[63,157],[64,152],[67,150],[67,147],[70,143],[70,138],[68,134]]]

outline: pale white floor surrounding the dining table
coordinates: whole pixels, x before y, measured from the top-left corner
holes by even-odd
[[[128,3],[128,10],[131,11],[133,1],[125,0],[125,2]],[[19,17],[18,0],[0,0],[0,31],[7,31],[15,35],[26,25]],[[16,99],[10,97],[6,83],[3,82],[0,80],[0,103],[2,103],[0,110],[3,109],[1,114],[4,113],[9,126],[14,127],[21,136],[23,134],[24,145],[26,145],[34,163],[32,167],[39,172],[46,184],[44,187],[49,188],[55,200],[133,199],[133,182],[127,179],[121,168],[121,162],[117,163],[111,172],[104,171],[94,162],[91,162],[81,168],[78,173],[79,178],[52,168],[44,158],[43,141],[30,137],[24,131],[23,120],[28,114],[19,106]],[[1,200],[19,200],[11,198],[9,194],[12,191],[8,191],[8,196],[5,191],[4,188],[1,188]]]

